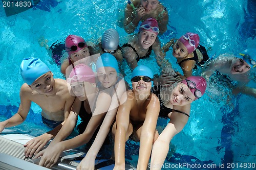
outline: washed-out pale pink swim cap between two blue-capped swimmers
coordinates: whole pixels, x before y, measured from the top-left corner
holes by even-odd
[[[67,79],[68,83],[74,82],[90,82],[95,83],[95,74],[87,65],[78,64],[70,72],[69,78]]]

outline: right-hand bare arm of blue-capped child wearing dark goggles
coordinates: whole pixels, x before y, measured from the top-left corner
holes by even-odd
[[[144,120],[140,135],[140,150],[137,169],[146,169],[150,159],[154,133],[156,130],[160,103],[155,94],[147,106],[146,118]]]

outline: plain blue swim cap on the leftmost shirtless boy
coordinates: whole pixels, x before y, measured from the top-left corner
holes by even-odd
[[[24,58],[20,64],[20,74],[28,85],[31,85],[40,76],[46,74],[50,69],[39,58]]]

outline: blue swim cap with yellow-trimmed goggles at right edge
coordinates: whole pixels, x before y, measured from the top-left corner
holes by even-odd
[[[248,48],[237,56],[237,58],[243,59],[251,68],[256,66],[256,48]]]

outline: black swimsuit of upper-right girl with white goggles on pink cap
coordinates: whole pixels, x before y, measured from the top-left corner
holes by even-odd
[[[179,62],[178,64],[181,66],[181,63],[183,63],[184,61],[195,60],[196,65],[202,66],[205,62],[207,62],[209,60],[209,56],[207,55],[206,49],[202,45],[198,45],[198,47],[196,48],[196,50],[193,53],[194,53],[194,57],[186,58],[186,59],[182,60],[181,62]],[[196,65],[195,65],[195,69],[197,68]]]

